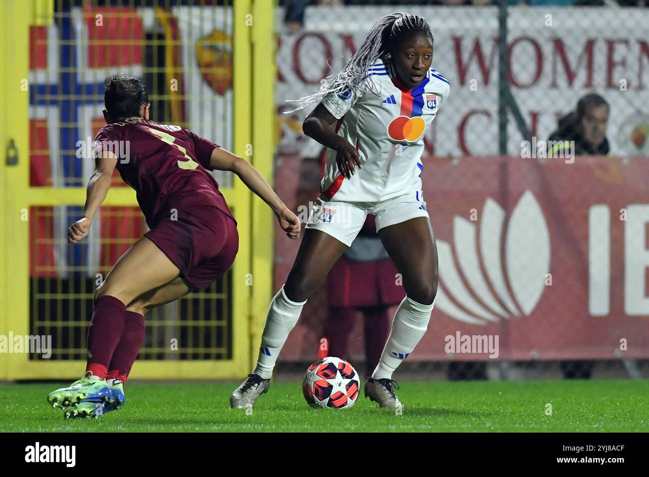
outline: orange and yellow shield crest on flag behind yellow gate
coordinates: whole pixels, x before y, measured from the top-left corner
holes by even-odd
[[[232,88],[232,36],[214,30],[196,42],[196,60],[202,78],[217,94]]]

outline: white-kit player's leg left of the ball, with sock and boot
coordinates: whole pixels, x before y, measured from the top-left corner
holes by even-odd
[[[277,356],[302,307],[324,284],[330,269],[346,249],[347,245],[321,230],[304,230],[293,268],[269,306],[257,365],[230,396],[232,408],[252,407],[268,391]]]

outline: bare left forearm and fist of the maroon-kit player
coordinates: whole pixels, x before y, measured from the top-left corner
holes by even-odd
[[[97,214],[101,202],[106,199],[116,165],[117,156],[110,151],[103,151],[95,160],[95,172],[88,180],[83,217],[67,229],[67,243],[77,243],[90,232],[92,218]]]

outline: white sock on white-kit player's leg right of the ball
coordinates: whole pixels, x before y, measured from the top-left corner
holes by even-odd
[[[372,378],[392,379],[392,373],[403,360],[408,358],[408,355],[424,336],[434,306],[435,300],[430,305],[417,303],[408,297],[402,300],[392,321],[392,329],[390,336],[387,337],[386,347],[383,349],[374,373],[372,373]]]

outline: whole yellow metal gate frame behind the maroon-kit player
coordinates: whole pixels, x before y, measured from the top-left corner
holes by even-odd
[[[275,121],[274,3],[233,1],[234,18],[234,153],[247,157],[271,180]],[[29,221],[31,206],[81,205],[83,188],[29,187],[29,27],[53,21],[53,0],[9,1],[0,19],[0,334],[29,334]],[[252,16],[252,26],[250,26]],[[254,71],[254,75],[253,75]],[[9,112],[11,114],[9,114]],[[6,165],[6,145],[18,148],[17,165]],[[232,269],[232,360],[138,361],[133,378],[239,378],[257,358],[263,321],[273,292],[273,214],[239,180],[222,189],[238,221],[239,252]],[[106,206],[136,205],[134,191],[112,188]],[[270,231],[270,233],[269,233]],[[253,237],[263,237],[253,241]],[[253,286],[247,274],[252,273]],[[29,360],[27,354],[0,354],[0,380],[76,378],[85,361]]]

